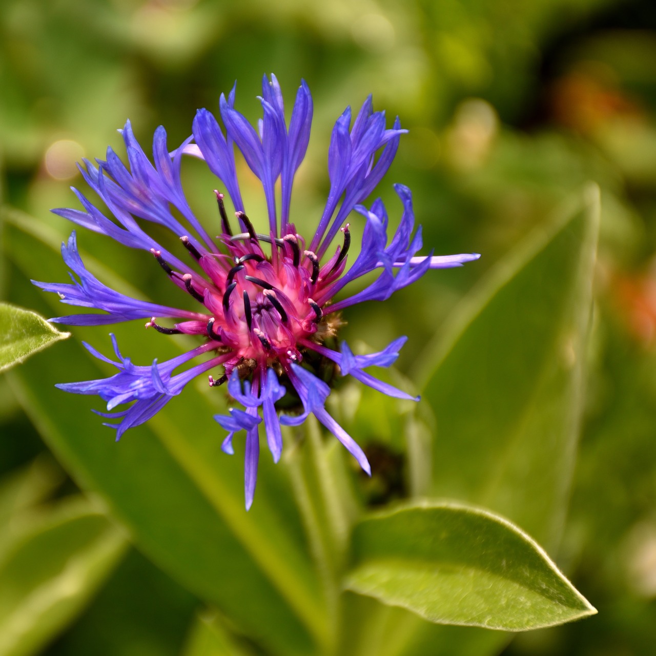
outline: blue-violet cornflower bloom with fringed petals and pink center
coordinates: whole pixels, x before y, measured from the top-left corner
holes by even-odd
[[[75,232],[62,244],[64,262],[72,283],[34,284],[56,292],[63,303],[96,308],[102,314],[73,314],[51,319],[68,325],[104,325],[148,319],[146,328],[173,335],[197,335],[201,346],[152,366],[133,365],[119,352],[112,335],[117,362],[85,344],[98,359],[112,363],[119,373],[108,379],[58,385],[66,392],[96,394],[107,402],[104,417],[116,429],[116,439],[133,426],[150,419],[194,377],[222,367],[209,384],[227,382],[228,392],[245,409],[232,407],[216,421],[228,431],[222,449],[232,453],[235,434],[245,430],[245,501],[253,502],[259,457],[259,425],[264,420],[268,447],[277,461],[281,455],[281,424],[296,426],[312,413],[371,474],[369,462],[358,444],[325,409],[329,385],[313,371],[314,357],[328,359],[342,375],[351,375],[365,385],[396,398],[411,399],[365,371],[372,366],[389,367],[398,357],[405,337],[379,353],[356,356],[342,343],[336,351],[326,345],[340,326],[340,312],[356,303],[384,300],[410,285],[430,268],[461,266],[476,254],[418,256],[421,228],[413,233],[414,213],[410,190],[394,188],[403,205],[400,224],[388,237],[388,216],[382,201],[367,209],[362,203],[386,173],[405,133],[397,118],[386,127],[384,112],[374,112],[371,96],[365,100],[351,125],[351,110],[337,119],[328,150],[330,190],[318,228],[309,243],[290,222],[291,192],[302,162],[312,123],[312,96],[304,81],[298,89],[289,125],[283,97],[274,75],[262,81],[263,117],[255,129],[235,109],[235,87],[228,98],[220,97],[223,131],[215,116],[203,109],[195,115],[193,134],[169,152],[163,127],[153,140],[153,161],[134,138],[130,123],[123,129],[129,167],[108,148],[106,160],[97,165],[85,160],[80,171],[108,212],[95,207],[81,192],[73,190],[83,209],[56,209],[54,213],[73,223],[105,234],[123,245],[150,251],[174,285],[198,303],[196,312],[127,297],[100,282],[85,268],[77,252]],[[268,226],[256,232],[245,213],[235,160],[235,148],[262,183]],[[213,239],[194,216],[186,200],[180,167],[182,157],[205,161],[230,197],[239,230],[233,232],[226,211],[226,197],[215,190],[221,234]],[[279,183],[279,195],[276,185]],[[176,209],[178,216],[172,212]],[[347,266],[351,241],[346,218],[355,210],[364,220],[361,251]],[[142,222],[138,222],[141,219]],[[144,223],[145,221],[145,223]],[[167,250],[142,227],[159,224],[179,237],[186,258]],[[335,238],[340,244],[333,247]],[[182,249],[178,249],[181,251]],[[347,285],[365,274],[377,272],[369,285],[348,295]],[[77,276],[77,279],[75,276]],[[338,297],[338,300],[335,298]],[[173,319],[173,327],[158,323]],[[174,375],[174,370],[195,356],[210,354],[200,364]],[[309,364],[308,364],[309,363]],[[285,394],[295,394],[300,412],[279,414],[276,403]],[[112,412],[123,403],[127,410]]]

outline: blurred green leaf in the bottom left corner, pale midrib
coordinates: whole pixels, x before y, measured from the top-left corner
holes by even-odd
[[[26,527],[0,558],[0,655],[39,651],[85,607],[127,541],[80,500]]]

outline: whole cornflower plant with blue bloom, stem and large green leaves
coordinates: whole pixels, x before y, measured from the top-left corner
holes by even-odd
[[[199,110],[192,136],[179,146],[171,148],[159,127],[152,157],[126,123],[127,163],[109,148],[106,159],[80,167],[102,203],[73,190],[80,207],[54,210],[146,251],[148,264],[177,288],[171,287],[167,304],[112,289],[83,262],[75,232],[62,244],[72,282],[34,283],[64,304],[95,310],[50,319],[73,326],[73,335],[75,327],[136,320],[141,325],[132,329],[148,329],[145,339],[168,335],[194,344],[151,363],[137,361],[134,353],[143,335],[133,333],[134,344],[126,338],[121,348],[112,335],[111,358],[85,343],[93,356],[87,359],[100,361],[92,363],[95,369],[111,365],[117,373],[56,385],[100,397],[106,407],[96,412],[116,440],[153,421],[117,446],[102,434],[90,436],[97,420],[71,410],[78,400],[43,384],[66,376],[61,361],[48,365],[44,358],[45,365],[37,365],[34,358],[17,374],[24,406],[49,413],[39,429],[75,480],[98,492],[147,556],[220,611],[214,619],[199,617],[192,633],[199,640],[190,641],[185,656],[205,653],[205,631],[220,636],[225,653],[333,656],[379,653],[380,647],[388,656],[484,655],[502,649],[507,638],[501,630],[595,613],[533,537],[513,523],[549,548],[556,544],[581,412],[598,230],[594,190],[528,239],[510,264],[489,274],[439,348],[426,356],[427,373],[416,372],[415,382],[430,400],[424,412],[434,413],[437,437],[422,441],[430,419],[406,413],[403,419],[410,419],[398,432],[409,462],[403,472],[409,499],[369,512],[364,495],[358,497],[366,477],[358,472],[358,481],[344,462],[350,456],[329,435],[365,474],[376,476],[357,418],[371,420],[378,406],[360,403],[356,420],[337,415],[339,404],[327,405],[335,380],[350,377],[354,385],[386,395],[390,415],[400,415],[397,400],[417,407],[405,401],[419,397],[380,380],[373,369],[390,367],[405,337],[379,352],[356,354],[339,342],[340,329],[352,306],[387,300],[431,269],[462,266],[478,255],[422,252],[406,186],[394,186],[394,218],[380,199],[370,201],[405,133],[398,118],[388,127],[371,97],[355,117],[350,108],[338,117],[327,148],[327,200],[314,233],[302,234],[292,191],[310,139],[312,96],[301,83],[287,121],[272,75],[264,77],[259,100],[256,126],[236,109],[233,88],[220,96],[220,122]],[[216,202],[213,220],[201,222],[184,192],[182,167],[189,158],[216,176],[207,188]],[[266,217],[256,216],[255,205],[247,207],[242,197],[237,171],[244,163],[262,185]],[[9,220],[22,239],[43,248],[30,225],[12,215]],[[352,243],[355,222],[358,247]],[[19,250],[16,258],[33,270],[31,249]],[[43,321],[31,321],[43,332]],[[14,351],[14,359],[23,357]],[[200,376],[211,391],[194,396],[187,390],[188,405],[172,403],[155,418]],[[336,396],[343,400],[353,387],[335,390]],[[365,388],[363,398],[377,396]],[[215,407],[207,401],[215,393],[227,398],[228,411],[215,416],[219,426],[208,419],[216,432],[195,431],[195,415],[201,422],[200,410]],[[260,463],[260,440],[276,466]],[[241,464],[230,468],[233,461],[220,453],[242,448],[247,510],[258,464],[266,470],[251,512],[242,505]],[[77,535],[84,523],[95,540],[99,522],[111,534],[112,548],[98,556],[109,571],[127,539],[97,508],[67,516],[62,535]],[[68,552],[58,549],[52,551],[68,562]],[[64,588],[68,594],[70,586]],[[84,582],[80,590],[88,596]],[[456,636],[436,625],[497,631]]]

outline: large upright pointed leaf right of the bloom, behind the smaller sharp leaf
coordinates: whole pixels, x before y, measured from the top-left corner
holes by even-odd
[[[464,301],[414,377],[422,386],[419,414],[429,405],[436,410],[437,440],[430,444],[431,431],[419,418],[410,417],[404,430],[415,495],[432,488],[441,496],[490,505],[547,544],[560,534],[581,409],[598,222],[594,192],[588,190],[560,220],[500,262]],[[543,287],[546,297],[535,293]],[[556,345],[544,338],[550,332],[558,335]],[[569,356],[565,366],[553,357],[563,353],[559,339]],[[527,351],[532,355],[524,360]],[[499,379],[494,380],[497,359]],[[541,362],[552,369],[545,366],[541,374]],[[541,378],[542,387],[526,400],[524,386],[537,386]],[[502,425],[495,416],[500,409],[510,416]],[[512,419],[515,433],[504,432]],[[424,478],[431,451],[432,484]],[[366,623],[358,620],[363,615],[370,618]],[[507,642],[501,632],[432,625],[373,599],[347,598],[344,622],[352,618],[359,638],[355,647],[344,649],[358,656],[480,656],[497,653]]]

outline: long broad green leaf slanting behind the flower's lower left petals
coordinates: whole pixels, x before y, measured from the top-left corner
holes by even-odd
[[[16,213],[10,213],[7,224],[14,244],[12,260],[23,272],[12,281],[12,291],[33,298],[36,305],[39,294],[24,279],[64,278],[56,252],[61,237]],[[92,258],[83,257],[105,281],[136,293]],[[41,298],[60,314],[62,306],[53,296]],[[115,332],[120,337],[121,327]],[[75,333],[100,346],[104,330]],[[121,339],[123,352],[134,356],[135,363],[153,357],[161,361],[177,352],[173,340],[140,325],[128,326],[125,334],[129,338]],[[75,480],[104,499],[138,546],[272,652],[308,653],[316,641],[325,642],[321,587],[307,556],[284,464],[274,466],[268,454],[262,454],[255,504],[246,512],[243,459],[220,451],[222,430],[212,419],[222,394],[210,396],[213,390],[207,382],[191,384],[157,417],[115,444],[113,433],[87,410],[94,400],[89,403],[89,398],[53,386],[98,378],[111,369],[89,358],[78,340],[44,356],[38,367],[28,362],[17,371],[20,400]]]

